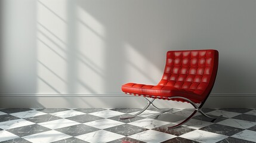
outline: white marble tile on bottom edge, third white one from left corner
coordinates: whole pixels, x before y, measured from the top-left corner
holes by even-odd
[[[114,141],[116,139],[124,138],[125,136],[119,135],[112,132],[107,132],[106,130],[98,130],[95,132],[87,133],[84,135],[76,136],[75,138],[81,139],[83,141],[87,142],[97,142],[97,143],[103,143],[103,142],[110,142]]]

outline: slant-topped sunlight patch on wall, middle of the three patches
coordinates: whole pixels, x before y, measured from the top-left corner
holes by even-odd
[[[104,26],[83,8],[78,7],[78,93],[104,92]]]

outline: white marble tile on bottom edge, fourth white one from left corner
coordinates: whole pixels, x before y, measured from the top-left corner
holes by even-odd
[[[171,138],[175,138],[175,135],[170,135],[167,133],[158,132],[156,130],[146,130],[144,132],[136,133],[134,135],[128,136],[129,138],[137,139],[139,141],[148,143],[158,143],[163,142]]]

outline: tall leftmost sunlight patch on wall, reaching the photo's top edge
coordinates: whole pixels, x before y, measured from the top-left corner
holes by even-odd
[[[66,92],[66,1],[37,2],[37,71],[39,94]]]

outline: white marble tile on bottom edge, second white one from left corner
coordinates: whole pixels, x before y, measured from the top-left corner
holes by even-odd
[[[47,132],[24,136],[23,138],[33,143],[48,143],[48,142],[59,141],[61,139],[66,139],[71,137],[72,136],[66,135],[61,132],[57,132],[56,130],[50,130]]]

